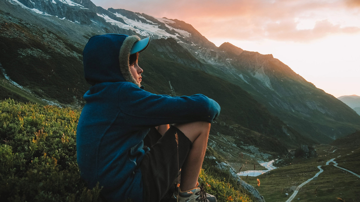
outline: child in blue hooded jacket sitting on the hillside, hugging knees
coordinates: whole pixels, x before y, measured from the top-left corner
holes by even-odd
[[[210,124],[220,106],[202,94],[145,91],[138,57],[149,41],[106,34],[87,42],[84,73],[91,87],[76,139],[81,177],[89,188],[99,183],[107,201],[160,201],[181,168],[172,200],[195,201]],[[207,200],[216,197],[207,194]]]

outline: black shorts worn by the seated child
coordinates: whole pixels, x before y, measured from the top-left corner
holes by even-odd
[[[160,201],[179,174],[192,142],[170,125],[164,136],[155,128],[150,129],[144,145],[150,147],[140,163],[144,201]]]

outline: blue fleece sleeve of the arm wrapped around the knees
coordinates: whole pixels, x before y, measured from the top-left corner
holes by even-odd
[[[156,126],[172,123],[207,121],[211,123],[220,114],[220,106],[202,95],[156,95],[132,83],[124,84],[119,91],[119,108],[133,125]]]

